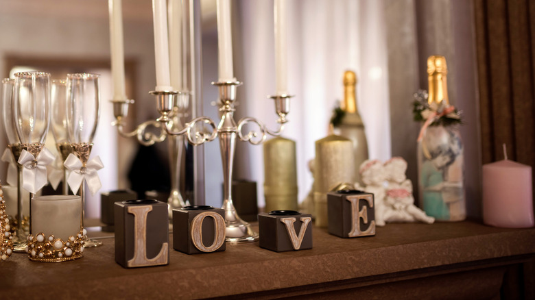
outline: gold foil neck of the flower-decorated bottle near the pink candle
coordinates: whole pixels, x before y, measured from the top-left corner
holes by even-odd
[[[427,74],[429,81],[429,98],[427,102],[449,105],[446,58],[442,55],[431,55],[427,58]]]

